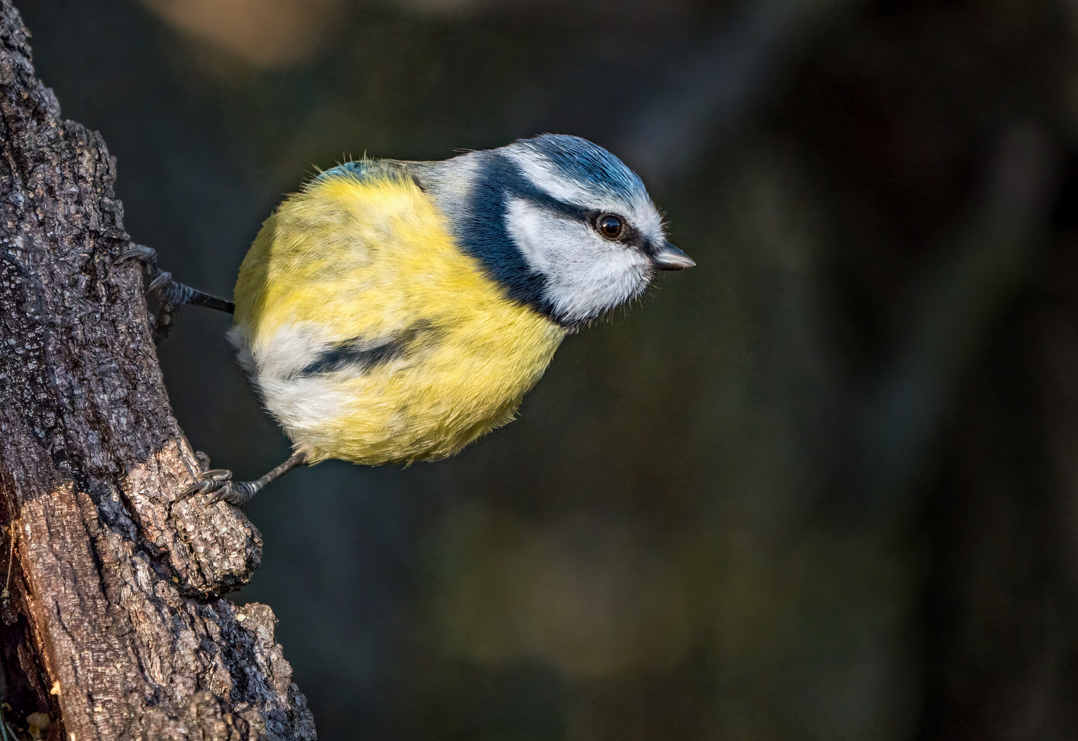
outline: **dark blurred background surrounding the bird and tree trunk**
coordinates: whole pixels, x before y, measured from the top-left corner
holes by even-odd
[[[16,4],[194,286],[316,167],[540,132],[699,263],[458,457],[248,508],[322,739],[1078,738],[1078,2]],[[227,324],[160,353],[253,478]]]

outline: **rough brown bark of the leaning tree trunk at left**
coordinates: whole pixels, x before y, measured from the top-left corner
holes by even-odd
[[[314,739],[264,605],[261,536],[176,502],[172,417],[126,249],[115,162],[59,118],[0,0],[0,648],[6,721],[50,739]],[[34,716],[41,721],[43,716]],[[40,723],[39,723],[40,727]]]

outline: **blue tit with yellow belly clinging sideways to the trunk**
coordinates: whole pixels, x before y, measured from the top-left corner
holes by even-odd
[[[152,252],[121,259],[156,270]],[[229,332],[293,453],[254,481],[202,471],[182,496],[243,506],[329,458],[451,456],[514,418],[568,334],[694,264],[639,176],[571,135],[320,171],[254,238]],[[151,287],[222,307],[167,273]]]

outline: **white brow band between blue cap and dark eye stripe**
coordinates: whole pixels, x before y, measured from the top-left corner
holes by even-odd
[[[663,220],[654,204],[646,195],[625,202],[603,191],[585,188],[576,180],[562,176],[544,155],[524,147],[509,147],[506,153],[516,163],[533,186],[549,193],[562,203],[586,206],[628,219],[636,229],[654,244],[665,241]]]

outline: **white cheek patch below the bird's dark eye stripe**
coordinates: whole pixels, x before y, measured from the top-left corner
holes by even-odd
[[[559,318],[595,318],[639,296],[651,279],[650,260],[639,250],[523,198],[507,204],[506,228],[528,264],[547,278],[545,298]]]

